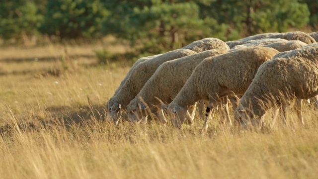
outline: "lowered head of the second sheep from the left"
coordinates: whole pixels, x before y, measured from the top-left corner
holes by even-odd
[[[139,98],[134,98],[127,105],[127,113],[129,119],[132,122],[139,123],[140,121],[147,120],[147,106],[139,100]]]

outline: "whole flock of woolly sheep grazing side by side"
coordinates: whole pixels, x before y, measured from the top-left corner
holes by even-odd
[[[215,110],[241,126],[259,126],[274,108],[286,123],[286,108],[294,99],[300,122],[301,103],[318,103],[318,32],[264,33],[224,42],[205,38],[164,54],[136,61],[106,104],[107,118],[147,121],[151,108],[173,127],[193,123],[196,108],[203,128]],[[206,106],[206,110],[205,107]],[[202,115],[205,110],[205,116]]]

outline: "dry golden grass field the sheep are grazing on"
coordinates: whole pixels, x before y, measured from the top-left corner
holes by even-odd
[[[220,124],[219,114],[204,135],[199,119],[183,130],[106,122],[105,102],[129,67],[95,65],[98,48],[0,49],[0,178],[317,178],[312,106],[303,107],[305,126],[291,108],[287,126],[269,114],[258,132]]]

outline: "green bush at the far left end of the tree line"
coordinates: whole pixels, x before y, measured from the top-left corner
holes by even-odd
[[[3,39],[19,38],[21,33],[31,35],[43,22],[37,6],[28,0],[0,2],[0,36]]]

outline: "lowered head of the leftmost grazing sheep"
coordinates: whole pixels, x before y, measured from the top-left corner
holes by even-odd
[[[115,125],[121,117],[121,106],[117,101],[109,100],[106,104],[106,117],[109,122],[114,122]]]

